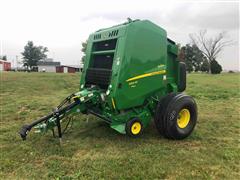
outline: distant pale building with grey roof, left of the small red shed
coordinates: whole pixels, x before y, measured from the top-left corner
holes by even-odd
[[[38,72],[56,72],[56,67],[60,65],[60,62],[53,61],[39,61],[37,63]]]

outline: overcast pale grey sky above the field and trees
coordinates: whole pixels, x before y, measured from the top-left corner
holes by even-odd
[[[207,30],[209,37],[226,31],[233,44],[217,60],[225,70],[240,70],[239,1],[160,0],[0,0],[0,54],[16,65],[27,41],[46,46],[48,57],[77,65],[81,43],[90,33],[126,22],[148,19],[167,30],[176,43]]]

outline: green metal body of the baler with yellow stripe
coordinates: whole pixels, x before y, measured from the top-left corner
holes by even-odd
[[[94,43],[116,39],[116,47],[97,51]],[[99,89],[105,100],[99,112],[111,119],[111,127],[125,133],[125,123],[138,117],[147,126],[157,101],[178,91],[177,46],[161,27],[148,20],[132,21],[91,34],[80,81],[86,88],[86,72],[98,54],[113,54],[112,74],[107,89]],[[100,94],[101,94],[100,93]]]

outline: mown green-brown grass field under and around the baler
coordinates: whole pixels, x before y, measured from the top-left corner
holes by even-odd
[[[61,147],[51,132],[17,132],[76,92],[79,75],[2,73],[0,85],[0,179],[240,179],[240,74],[188,76],[199,119],[185,140],[153,123],[132,139],[78,116]]]

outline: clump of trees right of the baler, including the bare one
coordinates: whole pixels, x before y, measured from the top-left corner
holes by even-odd
[[[190,34],[191,43],[185,46],[178,44],[178,59],[185,62],[189,73],[202,71],[219,74],[222,72],[222,66],[218,63],[217,57],[224,47],[232,44],[232,41],[226,40],[226,32],[210,38],[207,38],[206,34],[206,30],[198,34]]]

